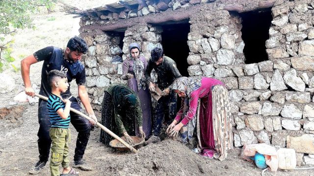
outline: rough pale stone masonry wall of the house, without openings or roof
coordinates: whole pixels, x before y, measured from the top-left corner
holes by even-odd
[[[191,5],[191,1],[185,4]],[[178,1],[169,4],[172,2],[175,9]],[[185,4],[180,3],[180,8]],[[293,148],[298,165],[313,164],[314,0],[276,1],[265,43],[269,60],[255,64],[244,64],[241,18],[224,6],[217,1],[204,4],[199,13],[191,15],[186,58],[189,75],[214,77],[227,85],[235,147],[264,142]],[[149,59],[150,51],[160,46],[161,32],[148,24],[129,27],[120,48],[123,59],[132,42],[141,44],[141,54]],[[103,89],[121,81],[122,66],[110,60],[116,53],[112,51],[117,45],[114,35],[83,36],[90,45],[85,57],[88,92],[99,110]]]

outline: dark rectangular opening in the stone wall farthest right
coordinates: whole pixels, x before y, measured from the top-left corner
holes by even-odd
[[[269,39],[269,28],[273,20],[271,8],[240,13],[245,64],[268,60],[265,42]]]

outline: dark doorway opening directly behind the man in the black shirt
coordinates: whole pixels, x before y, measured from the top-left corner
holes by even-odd
[[[190,32],[189,23],[167,24],[161,26],[161,44],[164,54],[177,63],[178,70],[182,76],[188,76],[187,56],[189,47],[187,45],[187,34]]]

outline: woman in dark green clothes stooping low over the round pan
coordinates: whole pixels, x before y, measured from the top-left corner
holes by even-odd
[[[132,143],[130,135],[145,137],[139,99],[131,88],[122,84],[113,84],[105,90],[102,124],[112,132],[124,135],[129,144]],[[101,131],[100,141],[108,145],[110,140],[111,136]]]

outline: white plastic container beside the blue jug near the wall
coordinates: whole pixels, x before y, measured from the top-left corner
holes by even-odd
[[[296,167],[296,154],[294,149],[281,148],[277,151],[279,169],[293,170]]]

